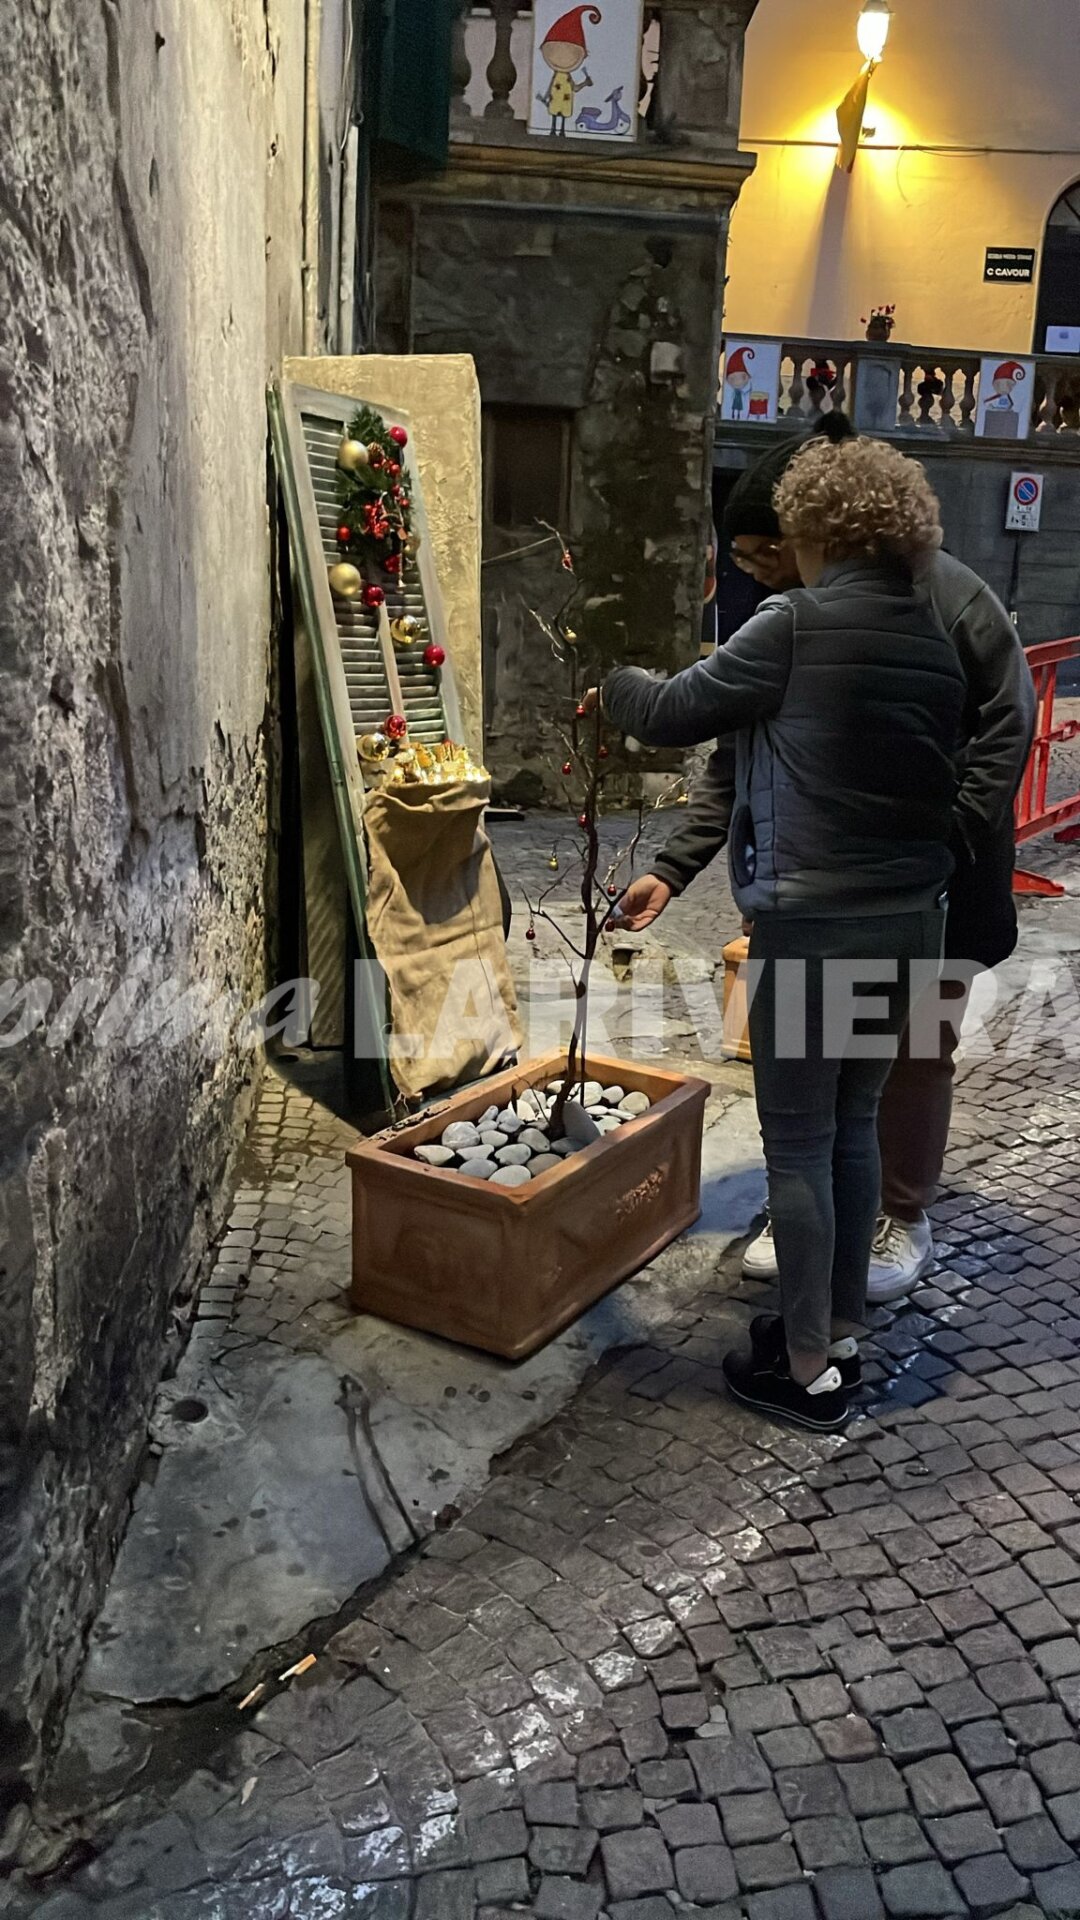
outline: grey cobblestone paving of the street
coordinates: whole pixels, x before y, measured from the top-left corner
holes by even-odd
[[[1080,947],[1074,899],[1024,912],[1043,950]],[[279,1686],[282,1657],[265,1703],[196,1701],[158,1743],[125,1715],[96,1782],[61,1766],[52,1816],[77,1847],[0,1908],[1080,1914],[1078,1048],[1072,996],[1053,1035],[965,1060],[938,1263],[876,1315],[844,1440],[724,1398],[721,1357],[771,1298],[732,1248],[311,1630],[306,1676]],[[261,1277],[254,1221],[234,1227],[240,1306],[221,1279],[219,1298],[234,1338],[302,1352],[309,1315],[344,1317],[321,1252],[344,1231],[323,1179],[340,1133],[284,1094],[259,1125],[282,1158],[315,1142],[319,1169],[304,1217],[294,1188],[269,1202],[281,1260],[265,1192],[240,1190]]]

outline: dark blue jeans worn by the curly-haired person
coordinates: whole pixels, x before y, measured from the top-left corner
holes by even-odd
[[[788,1348],[796,1354],[824,1354],[834,1321],[857,1325],[863,1319],[882,1181],[878,1104],[913,995],[926,985],[926,964],[940,960],[944,924],[944,912],[759,914],[753,922],[753,1087],[769,1169],[780,1308]],[[840,968],[828,972],[830,960]],[[924,962],[915,981],[913,960]],[[803,962],[803,972],[790,962]],[[859,983],[859,962],[894,962],[896,979],[867,973]],[[851,977],[851,1000],[872,1006],[859,1018],[857,1033],[846,1035],[842,1012]],[[805,1031],[801,1048],[799,1027]],[[884,1037],[878,1041],[882,1058],[865,1058],[872,1044],[865,1035],[871,1033]]]

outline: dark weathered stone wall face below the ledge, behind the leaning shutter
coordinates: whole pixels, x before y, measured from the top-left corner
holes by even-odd
[[[417,351],[469,342],[488,405],[573,411],[561,532],[578,570],[582,649],[675,668],[696,647],[705,564],[717,234],[567,221],[530,257],[534,227],[427,209],[413,342]],[[678,346],[678,380],[650,378],[655,342]],[[525,801],[559,793],[565,674],[528,609],[553,612],[567,576],[555,547],[496,555],[536,538],[527,526],[488,540],[484,568],[486,755],[498,787]]]

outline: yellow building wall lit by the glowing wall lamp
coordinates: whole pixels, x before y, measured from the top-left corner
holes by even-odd
[[[732,215],[728,332],[1024,353],[1032,286],[984,282],[988,246],[1040,250],[1080,179],[1080,0],[894,0],[855,169],[836,106],[859,73],[859,0],[759,0],[746,36],[742,146],[757,169]],[[1042,342],[1038,342],[1042,348]]]

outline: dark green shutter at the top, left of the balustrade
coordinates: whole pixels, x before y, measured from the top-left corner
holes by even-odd
[[[384,177],[446,167],[454,13],[455,0],[382,0],[371,109]]]

